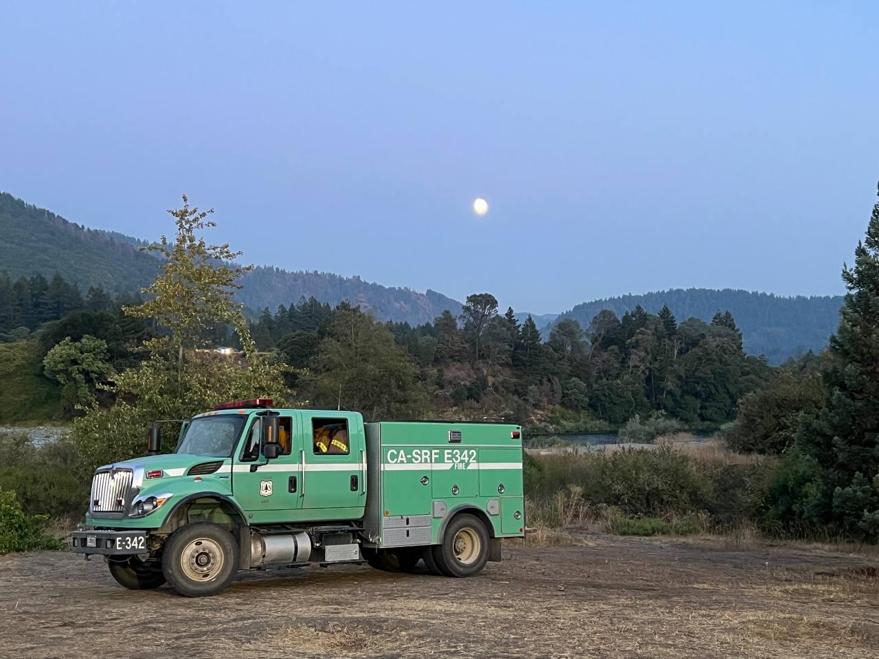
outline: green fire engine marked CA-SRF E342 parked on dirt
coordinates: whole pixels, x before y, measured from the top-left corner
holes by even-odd
[[[160,454],[98,467],[72,550],[132,590],[215,595],[239,569],[367,561],[473,576],[525,533],[522,434],[493,422],[377,421],[236,401]]]

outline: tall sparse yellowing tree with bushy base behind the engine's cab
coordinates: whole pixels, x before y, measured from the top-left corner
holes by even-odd
[[[153,318],[169,334],[143,342],[146,358],[127,368],[109,387],[115,402],[109,409],[92,405],[74,423],[73,441],[82,467],[124,460],[142,453],[149,425],[156,419],[184,419],[217,402],[266,396],[288,402],[287,368],[259,355],[240,305],[232,301],[240,269],[228,245],[209,245],[199,232],[214,227],[209,212],[190,208],[186,198],[170,211],[177,224],[173,242],[164,236],[149,249],[165,257],[162,270],[146,292],[149,301],[127,307],[135,318]],[[245,361],[198,350],[205,333],[217,325],[236,329]],[[169,448],[169,447],[166,447]]]

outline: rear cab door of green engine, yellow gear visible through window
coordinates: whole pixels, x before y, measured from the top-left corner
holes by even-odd
[[[360,517],[367,500],[366,444],[357,412],[301,412],[302,511],[312,519]]]

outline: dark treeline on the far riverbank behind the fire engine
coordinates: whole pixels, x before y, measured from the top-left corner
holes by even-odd
[[[309,368],[299,385],[316,402],[387,412],[387,402],[377,403],[363,382],[393,382],[397,391],[405,383],[413,388],[405,400],[422,411],[505,416],[537,431],[584,430],[592,420],[619,425],[657,413],[718,426],[772,370],[745,355],[729,312],[710,323],[679,323],[668,308],[657,315],[636,308],[621,318],[604,311],[586,329],[564,319],[543,342],[530,316],[519,323],[512,308],[500,315],[490,293],[470,295],[460,316],[445,311],[417,326],[375,322],[347,303],[331,309],[302,299],[274,314],[265,309],[251,331],[260,350]],[[350,363],[338,357],[345,352]],[[340,379],[326,367],[331,354],[345,372],[362,366],[376,376]],[[364,364],[368,358],[374,363]],[[354,390],[362,407],[346,399]]]

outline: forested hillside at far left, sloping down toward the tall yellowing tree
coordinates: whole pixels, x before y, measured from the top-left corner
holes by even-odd
[[[55,272],[79,286],[103,286],[132,293],[156,274],[155,257],[137,250],[146,244],[110,231],[85,228],[51,211],[0,192],[0,273],[11,279]]]

